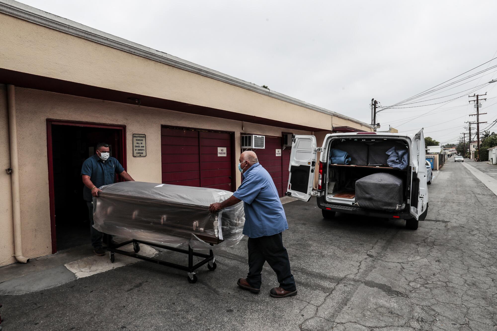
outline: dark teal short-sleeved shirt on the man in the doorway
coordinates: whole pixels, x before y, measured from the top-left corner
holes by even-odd
[[[103,185],[113,184],[114,179],[116,178],[116,172],[120,174],[123,171],[123,166],[115,157],[110,156],[107,161],[102,161],[96,154],[88,157],[83,162],[83,167],[81,167],[81,175],[90,176],[91,183],[97,188]],[[88,189],[86,185],[83,188],[83,199],[86,201],[91,201],[93,199],[91,190]]]

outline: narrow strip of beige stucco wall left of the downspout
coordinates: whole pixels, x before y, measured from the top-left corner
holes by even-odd
[[[12,225],[12,194],[10,176],[3,169],[10,168],[10,148],[8,139],[7,88],[0,84],[0,265],[8,265],[15,260],[14,235]]]

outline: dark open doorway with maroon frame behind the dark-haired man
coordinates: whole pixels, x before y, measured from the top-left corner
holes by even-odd
[[[88,208],[83,200],[81,167],[106,142],[110,155],[126,169],[124,127],[47,122],[52,252],[90,245]],[[116,174],[116,181],[119,181]]]

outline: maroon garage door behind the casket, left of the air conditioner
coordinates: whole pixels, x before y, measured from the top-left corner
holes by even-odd
[[[231,133],[163,127],[162,182],[232,191],[231,141]]]

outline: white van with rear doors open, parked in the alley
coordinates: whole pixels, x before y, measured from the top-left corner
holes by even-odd
[[[407,162],[404,162],[401,168],[387,164],[389,155],[385,152],[391,150],[392,147],[395,150],[403,150],[404,155],[407,155],[407,160],[404,158]],[[333,153],[336,153],[336,150],[347,152],[350,159],[348,164],[336,163],[337,158],[331,158],[332,149]],[[321,152],[321,157],[318,168],[318,187],[315,188],[314,177],[318,151]],[[323,217],[327,219],[332,219],[335,212],[398,218],[405,219],[406,227],[415,230],[418,227],[418,221],[424,220],[428,212],[423,130],[416,134],[332,133],[326,135],[323,146],[319,148],[314,135],[294,135],[289,171],[286,195],[304,201],[309,201],[312,196],[316,196]],[[378,173],[384,173],[379,176],[395,179],[398,183],[396,186],[398,191],[394,190],[396,193],[392,193],[389,188],[383,189],[385,186],[381,180],[378,184],[370,181],[369,185],[377,190],[378,194],[370,194],[368,199],[382,199],[382,197],[386,200],[398,199],[400,202],[394,202],[394,206],[390,209],[381,206],[381,203],[362,203],[356,197],[355,185],[362,183],[362,181],[357,183],[356,181]],[[374,176],[378,177],[378,175]],[[395,199],[385,198],[389,195],[392,197],[392,194]],[[374,207],[371,207],[372,205]]]

